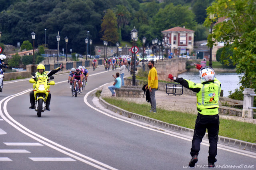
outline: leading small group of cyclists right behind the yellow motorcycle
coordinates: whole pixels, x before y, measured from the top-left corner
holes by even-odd
[[[88,75],[88,70],[82,65],[80,65],[77,69],[72,68],[68,75],[68,83],[70,83],[70,89],[72,88],[72,82],[74,82],[75,87],[77,81],[80,93],[82,93],[83,79],[85,80],[85,85],[87,85]]]

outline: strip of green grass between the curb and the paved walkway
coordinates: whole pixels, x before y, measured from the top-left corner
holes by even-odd
[[[157,119],[166,123],[194,129],[197,115],[157,109],[157,113],[150,113],[150,104],[137,104],[123,99],[103,98],[111,105],[126,111]],[[146,102],[145,102],[146,103]],[[234,120],[220,119],[219,135],[246,142],[256,143],[256,125]]]

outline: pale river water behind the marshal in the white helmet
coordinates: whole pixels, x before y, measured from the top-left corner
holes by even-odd
[[[237,73],[216,73],[216,78],[221,83],[221,89],[223,90],[224,97],[228,97],[229,91],[234,92],[235,89],[240,87],[239,77],[243,75],[244,74]],[[198,72],[195,71],[187,71],[178,75],[178,77],[193,81],[194,83],[201,83]]]

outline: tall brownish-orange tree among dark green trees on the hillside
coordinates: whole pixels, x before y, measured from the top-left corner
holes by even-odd
[[[107,10],[101,24],[102,40],[115,44],[118,41],[117,18],[114,12]],[[111,44],[110,44],[111,45]]]

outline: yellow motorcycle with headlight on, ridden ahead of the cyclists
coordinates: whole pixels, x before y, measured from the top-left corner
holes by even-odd
[[[49,77],[50,80],[54,79],[53,76]],[[29,80],[33,84],[33,91],[35,97],[35,111],[37,111],[37,117],[41,117],[42,112],[46,109],[46,99],[49,94],[50,85],[55,85],[54,81],[48,82],[46,77],[38,77],[38,80],[35,81],[33,78]]]

